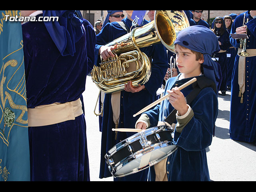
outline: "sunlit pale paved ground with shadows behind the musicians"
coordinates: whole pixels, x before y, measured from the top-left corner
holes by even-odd
[[[112,181],[113,178],[99,178],[100,140],[98,117],[94,107],[98,88],[87,76],[83,94],[86,108],[86,126],[91,181]],[[208,167],[212,181],[256,181],[256,146],[236,142],[229,136],[230,92],[219,95],[219,113],[216,121],[215,137],[207,149]],[[98,105],[97,105],[98,108]]]

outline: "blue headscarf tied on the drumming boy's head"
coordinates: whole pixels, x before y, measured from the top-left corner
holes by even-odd
[[[212,54],[220,51],[216,35],[205,26],[190,26],[178,33],[174,44],[179,44],[185,48],[204,54],[204,76],[215,82],[217,88],[216,94],[218,94],[222,75],[220,65],[212,60]]]

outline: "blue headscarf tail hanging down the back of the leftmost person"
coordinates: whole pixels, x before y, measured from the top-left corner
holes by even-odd
[[[58,21],[44,22],[44,25],[62,56],[74,56],[75,43],[83,34],[83,21],[75,15],[75,12],[43,10],[43,16],[58,16]]]

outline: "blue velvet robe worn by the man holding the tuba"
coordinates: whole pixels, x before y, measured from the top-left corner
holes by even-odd
[[[122,21],[124,21],[129,28],[132,26],[132,21],[128,20],[128,18],[124,18]],[[117,22],[108,23],[102,28],[101,32],[96,36],[95,57],[96,60],[98,60],[96,64],[100,62],[100,57],[98,55],[100,46],[111,42],[126,33],[127,32]],[[121,91],[118,128],[134,128],[139,116],[133,117],[133,115],[157,99],[156,91],[161,86],[168,68],[166,48],[162,44],[141,48],[140,50],[147,56],[151,56],[153,59],[151,76],[148,82],[144,84],[146,88],[145,90],[141,90],[137,93],[126,92],[124,90]],[[106,152],[120,141],[134,134],[131,132],[118,132],[116,139],[116,133],[112,131],[112,128],[115,128],[115,124],[112,115],[111,94],[105,94],[102,119],[100,178],[112,176],[104,157]],[[147,178],[148,169],[114,180],[146,181]]]

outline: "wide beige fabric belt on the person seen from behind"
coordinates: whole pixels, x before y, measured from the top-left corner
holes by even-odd
[[[28,126],[46,126],[67,120],[74,120],[83,114],[80,98],[66,103],[53,103],[49,105],[28,108]]]

